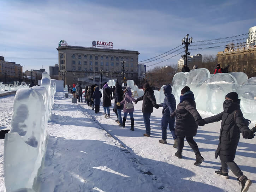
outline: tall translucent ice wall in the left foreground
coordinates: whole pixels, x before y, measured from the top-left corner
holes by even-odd
[[[19,89],[11,129],[5,135],[4,172],[7,192],[32,191],[46,150],[47,121],[52,109],[49,75],[42,86]],[[50,102],[49,102],[50,101]]]

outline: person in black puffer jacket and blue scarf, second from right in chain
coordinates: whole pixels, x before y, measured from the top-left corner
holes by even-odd
[[[185,86],[180,93],[180,103],[175,110],[175,134],[178,136],[178,150],[175,156],[182,158],[181,152],[184,147],[184,138],[186,137],[187,143],[189,143],[196,155],[196,162],[194,164],[200,165],[204,161],[204,158],[201,156],[193,137],[196,136],[198,125],[203,126],[204,121],[196,110],[194,94],[190,88]]]

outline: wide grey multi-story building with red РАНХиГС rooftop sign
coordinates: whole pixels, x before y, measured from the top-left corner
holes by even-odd
[[[127,80],[138,76],[137,51],[68,46],[66,43],[59,44],[56,49],[59,55],[59,79],[64,76],[68,85],[77,82],[82,85],[100,84],[103,77],[104,80],[117,79],[121,82],[123,73]]]

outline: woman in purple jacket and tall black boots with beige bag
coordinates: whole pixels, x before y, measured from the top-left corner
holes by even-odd
[[[117,103],[117,105],[122,105],[124,103],[124,118],[123,118],[123,127],[125,127],[125,121],[127,114],[129,113],[130,118],[131,118],[131,131],[134,131],[134,119],[133,119],[133,112],[134,112],[134,107],[129,109],[129,104],[127,103],[132,103],[132,101],[136,101],[135,98],[132,97],[132,92],[130,87],[125,88],[125,94],[124,94],[124,100],[121,101],[120,103]],[[128,109],[127,109],[128,108]]]

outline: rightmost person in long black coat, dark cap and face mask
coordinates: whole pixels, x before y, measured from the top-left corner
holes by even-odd
[[[238,177],[239,184],[242,183],[242,192],[248,190],[251,185],[249,180],[241,169],[234,162],[236,156],[237,145],[240,139],[240,133],[243,134],[243,138],[254,138],[256,128],[249,129],[248,125],[244,121],[243,113],[240,110],[240,99],[236,92],[230,92],[225,96],[223,103],[224,111],[218,115],[211,116],[203,119],[206,124],[220,121],[220,142],[215,152],[215,158],[220,156],[220,170],[215,171],[215,174],[228,179],[228,167]]]

